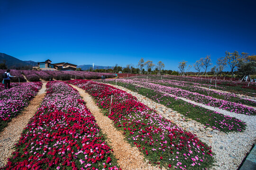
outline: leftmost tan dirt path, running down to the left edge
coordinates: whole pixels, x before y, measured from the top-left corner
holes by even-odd
[[[46,83],[43,83],[42,88],[39,90],[35,98],[30,101],[29,105],[22,111],[21,114],[9,122],[6,127],[0,133],[0,167],[3,167],[7,163],[7,159],[11,157],[11,153],[14,151],[13,146],[19,140],[19,137],[23,129],[27,126],[29,119],[31,119],[37,108],[43,101],[46,94]]]

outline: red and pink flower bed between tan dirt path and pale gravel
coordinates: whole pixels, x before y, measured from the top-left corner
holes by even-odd
[[[138,102],[136,97],[110,85],[89,80],[71,80],[68,83],[91,94],[114,125],[123,131],[128,142],[144,153],[150,163],[166,169],[182,170],[206,170],[213,164],[212,152],[207,144]],[[111,95],[113,100],[109,115]]]

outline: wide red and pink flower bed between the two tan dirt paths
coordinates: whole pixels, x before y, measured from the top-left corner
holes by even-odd
[[[54,81],[24,129],[6,170],[119,170],[77,90]]]

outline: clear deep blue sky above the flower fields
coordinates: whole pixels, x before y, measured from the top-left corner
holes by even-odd
[[[256,0],[0,0],[0,52],[122,67],[142,57],[172,70],[211,55],[215,65],[225,51],[256,54],[255,9]]]

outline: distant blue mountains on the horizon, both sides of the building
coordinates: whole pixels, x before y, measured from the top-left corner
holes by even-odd
[[[42,61],[38,61],[42,62]],[[5,53],[0,53],[0,63],[5,63],[7,68],[11,69],[22,69],[22,68],[32,68],[33,66],[38,66],[38,62],[35,61],[22,61]],[[88,70],[92,68],[92,65],[79,65],[77,68],[82,68],[82,70]],[[96,66],[94,65],[94,69],[108,69],[112,68],[110,66]]]

